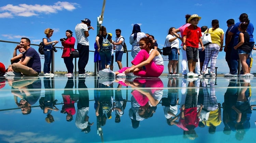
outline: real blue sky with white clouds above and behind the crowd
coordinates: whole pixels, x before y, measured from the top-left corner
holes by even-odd
[[[89,18],[91,25],[95,28],[94,31],[89,31],[90,36],[88,37],[90,50],[94,50],[97,17],[101,14],[102,3],[103,0],[1,1],[0,39],[19,42],[21,37],[28,37],[32,44],[39,44],[44,36],[44,30],[52,28],[54,34],[51,39],[59,40],[66,37],[66,30],[74,32],[75,25],[80,23],[80,20]],[[211,27],[211,20],[218,19],[220,28],[226,32],[226,21],[233,18],[235,22],[239,22],[238,18],[242,13],[248,14],[251,22],[256,23],[255,10],[251,6],[255,4],[254,0],[243,2],[239,0],[183,0],[182,3],[180,0],[106,0],[102,25],[106,27],[107,32],[113,33],[114,36],[115,29],[121,29],[122,35],[126,38],[128,50],[130,50],[128,39],[133,24],[138,23],[141,25],[141,31],[154,35],[159,48],[162,48],[169,28],[179,28],[185,24],[186,14],[201,16],[202,19],[198,24],[200,27],[203,25]],[[58,43],[57,47],[61,47],[61,43]],[[13,51],[14,47],[8,48]],[[59,49],[55,56],[60,57],[61,53]],[[90,56],[90,58],[93,57]],[[56,69],[66,69],[62,59],[55,62]],[[94,65],[94,63],[89,64]],[[117,67],[116,63],[114,67]],[[219,53],[217,67],[219,67],[218,71],[228,72],[224,51]],[[256,72],[255,64],[252,72]]]

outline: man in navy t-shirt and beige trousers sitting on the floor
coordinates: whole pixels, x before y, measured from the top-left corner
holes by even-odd
[[[38,76],[41,72],[41,61],[38,52],[30,47],[30,40],[28,38],[21,38],[20,46],[24,48],[26,52],[19,62],[13,63],[8,67],[6,74],[9,76],[21,76],[22,74]]]

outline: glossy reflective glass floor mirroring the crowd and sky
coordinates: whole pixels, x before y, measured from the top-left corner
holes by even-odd
[[[256,77],[8,78],[1,143],[256,140]]]

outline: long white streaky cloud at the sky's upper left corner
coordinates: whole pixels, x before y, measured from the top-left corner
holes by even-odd
[[[30,17],[30,16],[39,16],[43,14],[51,14],[51,13],[58,13],[58,11],[67,10],[73,11],[76,9],[75,6],[79,6],[77,3],[70,3],[70,2],[56,2],[53,5],[28,5],[28,4],[19,4],[19,5],[12,5],[7,4],[5,6],[0,7],[0,18],[14,18],[14,16],[23,16],[23,17]]]

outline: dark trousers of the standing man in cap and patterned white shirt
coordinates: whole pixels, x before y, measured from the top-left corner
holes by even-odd
[[[85,73],[85,67],[89,60],[89,46],[82,45],[80,43],[77,44],[77,50],[79,52],[79,60],[78,60],[78,74]]]

